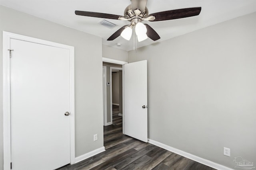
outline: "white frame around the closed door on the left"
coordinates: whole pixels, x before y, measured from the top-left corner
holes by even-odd
[[[3,31],[3,125],[4,170],[10,170],[11,162],[11,111],[10,111],[10,40],[18,39],[70,51],[70,164],[75,163],[75,109],[74,109],[74,47]]]

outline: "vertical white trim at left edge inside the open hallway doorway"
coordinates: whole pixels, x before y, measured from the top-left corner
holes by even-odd
[[[107,125],[107,66],[103,66],[103,125]]]

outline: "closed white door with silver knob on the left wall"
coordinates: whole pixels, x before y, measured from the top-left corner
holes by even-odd
[[[70,52],[11,39],[12,170],[70,163]]]

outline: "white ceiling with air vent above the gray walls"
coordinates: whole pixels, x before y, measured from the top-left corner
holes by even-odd
[[[103,44],[126,51],[130,51],[134,47],[132,38],[130,41],[126,41],[121,36],[114,41],[106,41],[106,39],[123,25],[128,25],[128,21],[110,20],[118,26],[109,29],[98,24],[102,18],[76,16],[74,11],[101,12],[123,16],[124,9],[129,4],[130,0],[0,0],[0,5],[97,35],[102,37]],[[256,0],[148,0],[147,3],[149,14],[198,6],[202,7],[199,16],[168,21],[144,21],[161,38],[158,41],[148,38],[137,43],[137,47],[164,41],[203,27],[256,12]],[[117,47],[116,43],[122,43],[122,45]]]

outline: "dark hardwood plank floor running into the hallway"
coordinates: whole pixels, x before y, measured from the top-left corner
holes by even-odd
[[[214,170],[122,133],[122,117],[113,106],[113,124],[104,127],[105,152],[58,170]]]

